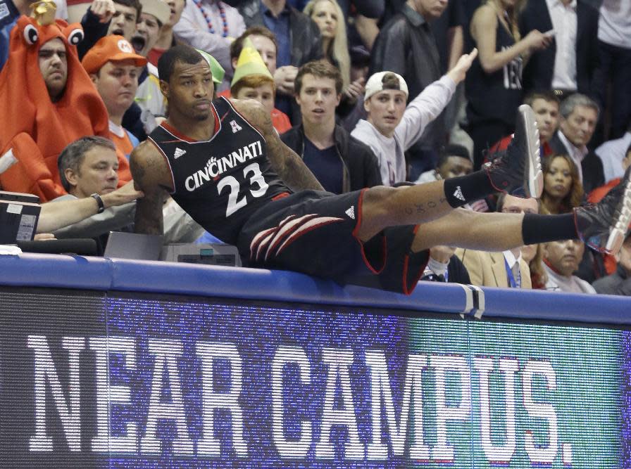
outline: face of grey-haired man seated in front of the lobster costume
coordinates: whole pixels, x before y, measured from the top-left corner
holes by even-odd
[[[118,158],[111,148],[94,146],[85,153],[79,170],[66,169],[65,176],[77,198],[110,193],[118,186]]]

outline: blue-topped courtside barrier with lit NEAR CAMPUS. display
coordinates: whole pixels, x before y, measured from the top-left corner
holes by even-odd
[[[0,256],[0,466],[629,468],[631,300]]]

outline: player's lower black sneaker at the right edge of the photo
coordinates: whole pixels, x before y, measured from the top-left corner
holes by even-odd
[[[600,252],[620,250],[631,221],[631,171],[597,204],[574,209],[578,236]]]

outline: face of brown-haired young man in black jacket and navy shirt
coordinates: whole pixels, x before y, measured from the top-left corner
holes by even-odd
[[[307,73],[302,77],[302,87],[296,101],[300,105],[302,119],[317,126],[335,120],[335,108],[340,95],[335,90],[335,79],[320,78]]]

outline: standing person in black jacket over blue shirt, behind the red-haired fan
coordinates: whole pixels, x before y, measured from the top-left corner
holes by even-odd
[[[294,79],[301,65],[323,58],[318,25],[286,0],[244,0],[239,4],[239,13],[247,27],[265,26],[275,34],[278,46],[275,107],[287,114],[292,124],[298,124],[300,113],[292,105]]]

